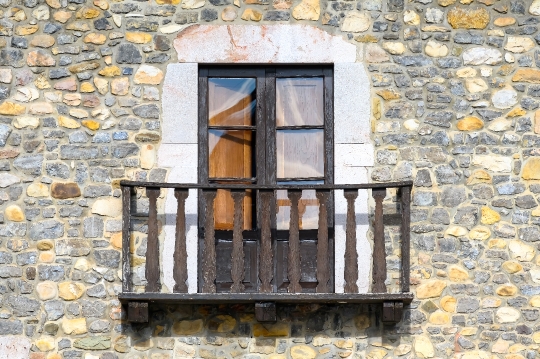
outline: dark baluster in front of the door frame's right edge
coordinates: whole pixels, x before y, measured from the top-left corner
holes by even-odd
[[[319,225],[317,230],[317,293],[328,293],[330,271],[328,266],[328,198],[329,191],[317,191]]]

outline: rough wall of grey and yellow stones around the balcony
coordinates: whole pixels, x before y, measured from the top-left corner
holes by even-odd
[[[537,357],[539,21],[538,0],[0,0],[0,357]],[[118,182],[166,180],[163,78],[198,23],[299,23],[356,46],[371,179],[415,183],[416,300],[397,326],[374,305],[282,306],[273,325],[251,306],[123,321]]]

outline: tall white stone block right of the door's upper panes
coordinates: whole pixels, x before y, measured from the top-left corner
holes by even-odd
[[[334,143],[369,143],[370,99],[363,64],[334,64]]]

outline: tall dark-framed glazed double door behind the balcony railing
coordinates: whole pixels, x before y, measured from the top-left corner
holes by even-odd
[[[332,66],[200,66],[199,182],[332,184],[333,123]],[[202,197],[199,196],[200,208],[204,206]],[[247,192],[243,199],[246,292],[258,289],[260,203],[256,191]],[[290,216],[287,191],[277,191],[272,206],[272,213],[276,213],[272,218],[273,290],[286,292]],[[228,292],[232,284],[233,208],[230,191],[218,190],[214,202],[218,292]],[[318,223],[315,191],[303,191],[299,212],[300,284],[303,292],[315,292]],[[333,218],[330,209],[330,268],[334,265]],[[199,218],[199,250],[203,238],[204,218]]]

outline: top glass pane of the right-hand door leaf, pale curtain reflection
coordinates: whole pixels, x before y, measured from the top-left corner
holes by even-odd
[[[324,124],[323,79],[276,79],[277,126],[321,126]]]

